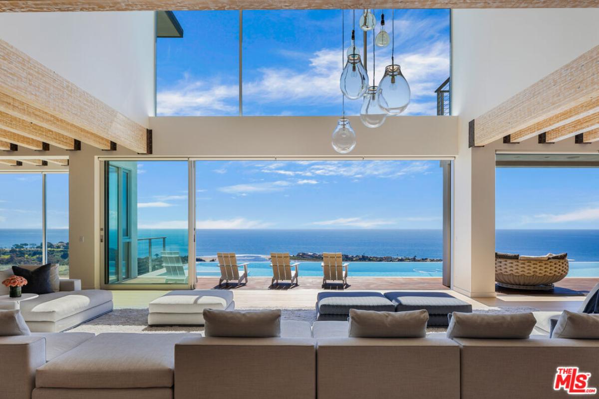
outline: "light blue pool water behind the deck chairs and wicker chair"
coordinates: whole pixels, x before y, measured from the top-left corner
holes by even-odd
[[[241,263],[241,262],[240,262]],[[253,277],[273,277],[270,262],[248,262]],[[197,262],[198,277],[220,275],[217,262]],[[349,262],[350,277],[441,277],[441,262]],[[299,262],[300,277],[322,277],[320,262]],[[599,277],[599,262],[570,262],[568,277]]]

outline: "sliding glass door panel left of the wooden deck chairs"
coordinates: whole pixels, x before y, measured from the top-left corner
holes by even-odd
[[[188,162],[105,165],[105,284],[189,284]]]

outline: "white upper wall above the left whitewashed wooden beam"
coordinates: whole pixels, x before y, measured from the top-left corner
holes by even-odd
[[[135,122],[154,115],[153,11],[0,13],[0,39]]]

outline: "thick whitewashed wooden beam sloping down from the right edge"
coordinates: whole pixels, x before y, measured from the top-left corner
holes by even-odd
[[[560,114],[565,122],[568,109],[597,97],[599,45],[474,119],[470,144],[487,145]],[[511,141],[517,140],[512,137]]]

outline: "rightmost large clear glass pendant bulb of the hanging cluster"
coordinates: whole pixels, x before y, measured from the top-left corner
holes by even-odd
[[[385,67],[379,83],[379,105],[389,115],[400,115],[410,104],[410,85],[399,65]]]

